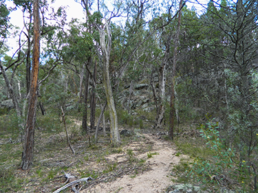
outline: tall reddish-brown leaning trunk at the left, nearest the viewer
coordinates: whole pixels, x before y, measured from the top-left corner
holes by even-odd
[[[32,58],[32,81],[30,85],[30,98],[28,103],[28,114],[25,129],[25,144],[23,147],[21,168],[28,170],[33,161],[34,149],[34,126],[36,122],[36,90],[39,73],[39,48],[40,48],[40,19],[39,19],[39,0],[33,3],[33,16],[34,16],[34,47]]]

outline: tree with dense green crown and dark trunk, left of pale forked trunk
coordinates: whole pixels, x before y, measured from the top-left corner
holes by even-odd
[[[89,87],[89,76],[94,56],[93,35],[89,32],[91,23],[78,23],[74,20],[69,24],[66,34],[67,39],[62,47],[62,57],[67,65],[74,67],[74,71],[80,73],[80,95],[82,95],[83,75],[85,73],[84,85],[84,107],[83,107],[83,131],[87,133],[87,98]],[[75,63],[76,65],[74,65]],[[80,70],[79,70],[80,69]],[[91,105],[92,106],[92,105]]]

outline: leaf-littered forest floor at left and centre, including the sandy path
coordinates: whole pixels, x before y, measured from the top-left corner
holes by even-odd
[[[121,135],[122,144],[112,146],[109,137],[100,132],[98,143],[94,133],[82,135],[80,122],[72,121],[68,133],[76,154],[67,146],[64,131],[35,130],[34,163],[30,170],[19,169],[21,143],[10,136],[0,143],[0,177],[3,192],[54,192],[65,185],[65,175],[75,179],[92,177],[78,184],[80,192],[165,192],[173,184],[173,167],[188,156],[177,153],[177,147],[164,139],[164,131],[120,128],[133,131]],[[77,126],[76,126],[77,125]],[[64,129],[63,129],[64,130]],[[107,130],[108,133],[108,130]],[[128,133],[127,133],[128,134]],[[90,140],[89,140],[90,137]],[[73,179],[74,180],[74,179]],[[1,191],[0,191],[1,192]],[[63,192],[72,192],[71,188]]]

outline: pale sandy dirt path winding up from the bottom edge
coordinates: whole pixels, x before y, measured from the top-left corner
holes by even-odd
[[[137,174],[136,176],[124,175],[109,183],[98,183],[98,185],[81,192],[164,192],[168,185],[171,185],[171,169],[179,163],[184,155],[175,156],[175,148],[164,139],[158,139],[156,135],[144,134],[148,144],[153,144],[151,152],[156,153],[148,158],[147,152],[140,154],[136,151],[142,142],[133,142],[126,149],[131,149],[138,159],[146,159],[150,170]],[[146,143],[146,142],[145,142]],[[137,155],[138,153],[138,155]],[[121,155],[112,155],[107,159],[122,161]]]

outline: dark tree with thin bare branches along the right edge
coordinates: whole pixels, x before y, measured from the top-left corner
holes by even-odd
[[[230,4],[232,3],[233,6]],[[228,106],[230,127],[239,140],[240,159],[250,159],[257,146],[257,14],[256,1],[230,2],[222,10],[227,20],[219,18],[220,29],[225,34],[224,44],[228,47],[226,76],[228,77]],[[229,9],[229,10],[228,10]]]

